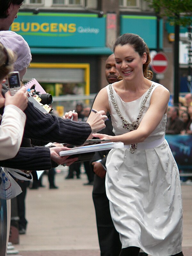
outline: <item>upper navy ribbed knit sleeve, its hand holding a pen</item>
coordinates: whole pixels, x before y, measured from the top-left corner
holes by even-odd
[[[88,123],[44,114],[31,102],[28,102],[24,113],[27,116],[24,130],[26,138],[82,145],[92,131]]]

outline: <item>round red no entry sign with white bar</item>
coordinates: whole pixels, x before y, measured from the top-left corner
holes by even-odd
[[[163,52],[158,52],[151,60],[152,70],[157,74],[161,74],[166,71],[167,67],[168,67],[167,56]]]

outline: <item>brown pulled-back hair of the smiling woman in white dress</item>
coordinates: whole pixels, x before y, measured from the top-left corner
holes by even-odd
[[[147,60],[143,64],[143,75],[147,79],[151,80],[153,78],[153,73],[151,70],[149,70],[149,63],[151,62],[151,57],[149,54],[149,48],[148,48],[147,44],[144,42],[144,40],[136,34],[132,34],[132,33],[123,34],[122,36],[119,36],[117,38],[117,40],[114,44],[114,47],[113,47],[113,52],[115,52],[115,47],[119,44],[122,46],[125,44],[132,45],[135,52],[138,52],[140,57],[142,57],[144,52],[146,52]]]

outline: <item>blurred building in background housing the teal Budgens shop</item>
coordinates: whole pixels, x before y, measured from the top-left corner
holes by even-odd
[[[154,56],[168,58],[165,73],[155,74],[173,93],[174,26],[158,18],[144,0],[24,0],[11,28],[28,42],[32,63],[24,76],[53,95],[60,115],[77,101],[90,105],[107,85],[104,66],[116,37],[140,35]],[[180,28],[180,92],[189,92],[186,32]]]

